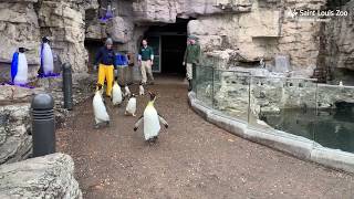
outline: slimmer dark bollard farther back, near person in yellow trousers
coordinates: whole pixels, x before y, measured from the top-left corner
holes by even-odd
[[[73,81],[70,63],[63,64],[64,108],[73,109]]]

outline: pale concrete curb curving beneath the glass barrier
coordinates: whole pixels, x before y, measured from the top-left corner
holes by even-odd
[[[300,159],[354,174],[354,154],[326,148],[311,139],[277,129],[256,129],[250,127],[247,122],[236,121],[221,112],[205,106],[201,101],[196,98],[194,92],[188,93],[188,98],[191,108],[197,114],[231,134],[291,154]]]

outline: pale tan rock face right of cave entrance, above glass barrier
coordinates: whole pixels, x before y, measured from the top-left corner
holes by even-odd
[[[287,1],[278,8],[253,2],[251,12],[198,18],[189,22],[188,30],[200,39],[205,51],[237,50],[238,59],[230,60],[228,65],[232,65],[231,61],[242,64],[261,59],[275,65],[277,55],[287,55],[294,71],[312,69],[319,54],[320,23],[293,19],[288,12],[294,8],[319,10],[324,3],[324,0]]]

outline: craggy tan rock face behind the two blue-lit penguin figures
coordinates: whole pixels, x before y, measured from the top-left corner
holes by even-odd
[[[30,77],[34,77],[40,64],[41,38],[46,35],[62,62],[71,63],[74,72],[86,72],[85,9],[96,7],[94,0],[1,1],[0,64],[9,65],[17,48],[25,46],[31,50],[27,59],[34,67],[30,69]]]

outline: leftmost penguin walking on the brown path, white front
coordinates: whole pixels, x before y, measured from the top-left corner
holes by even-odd
[[[97,85],[97,91],[93,97],[93,113],[95,115],[95,128],[98,128],[101,124],[110,125],[110,115],[107,114],[106,106],[102,97],[102,85]]]

